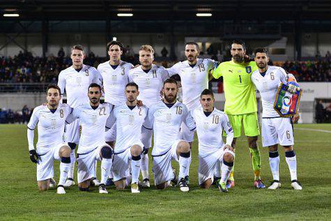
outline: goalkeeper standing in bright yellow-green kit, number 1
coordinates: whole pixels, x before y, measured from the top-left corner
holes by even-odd
[[[246,46],[243,40],[233,40],[231,45],[231,61],[220,63],[213,70],[213,77],[223,77],[225,106],[224,112],[229,117],[234,138],[232,147],[236,148],[236,140],[243,129],[247,136],[249,152],[254,170],[254,187],[265,188],[261,181],[261,158],[257,138],[260,134],[257,119],[257,105],[254,84],[250,76],[257,70],[254,61],[245,62]],[[233,172],[227,183],[228,188],[234,186]]]

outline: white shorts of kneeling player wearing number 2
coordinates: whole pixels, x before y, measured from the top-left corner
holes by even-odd
[[[121,180],[121,178],[130,176],[131,146],[133,145],[138,145],[141,147],[141,151],[143,150],[144,144],[142,144],[141,141],[137,141],[132,143],[132,145],[125,149],[125,151],[114,151],[114,160],[112,167],[114,182]]]

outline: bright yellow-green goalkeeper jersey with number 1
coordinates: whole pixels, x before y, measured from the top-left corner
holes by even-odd
[[[213,71],[216,79],[223,76],[226,114],[238,115],[257,112],[255,87],[251,75],[257,70],[255,61],[235,63],[226,61]]]

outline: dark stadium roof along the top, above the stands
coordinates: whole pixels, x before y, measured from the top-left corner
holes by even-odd
[[[331,1],[2,0],[0,12],[19,13],[20,20],[196,20],[196,13],[212,13],[209,20],[331,20]]]

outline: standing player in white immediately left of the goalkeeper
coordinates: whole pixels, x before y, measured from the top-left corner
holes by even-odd
[[[169,76],[179,75],[183,89],[183,104],[189,111],[200,107],[200,94],[208,89],[209,71],[213,68],[215,61],[211,59],[199,59],[199,45],[194,42],[185,44],[186,61],[179,61],[171,68],[167,68]],[[182,125],[181,138],[192,144],[194,131]],[[191,157],[190,157],[191,159]],[[189,171],[185,175],[189,182]]]

